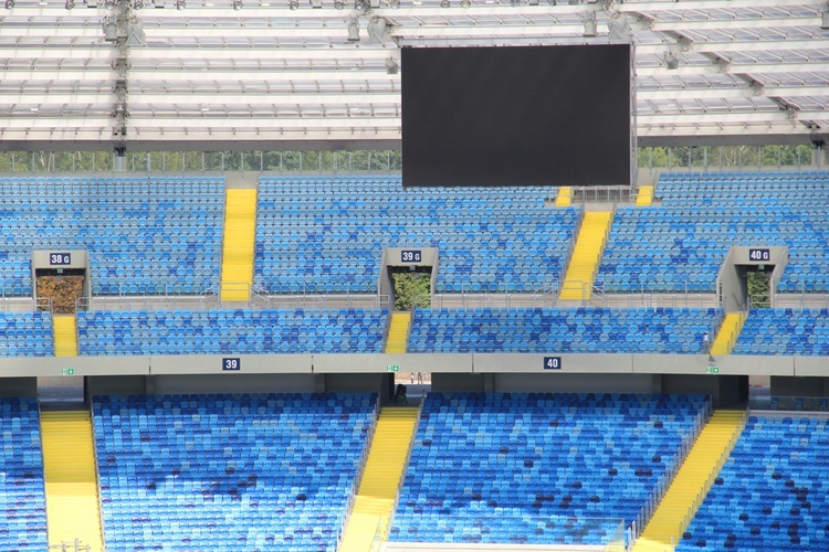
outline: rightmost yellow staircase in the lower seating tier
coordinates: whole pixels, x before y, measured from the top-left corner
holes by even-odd
[[[744,412],[716,411],[676,473],[633,552],[672,552],[728,459],[744,427]]]

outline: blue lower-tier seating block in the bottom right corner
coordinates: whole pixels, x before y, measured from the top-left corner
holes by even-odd
[[[826,418],[752,416],[678,552],[827,550]]]

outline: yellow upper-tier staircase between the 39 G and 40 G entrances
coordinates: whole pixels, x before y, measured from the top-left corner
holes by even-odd
[[[596,280],[596,270],[601,261],[605,236],[612,217],[613,213],[609,211],[585,213],[576,246],[573,248],[570,264],[567,267],[567,276],[562,284],[559,299],[583,300],[590,298],[592,284]]]

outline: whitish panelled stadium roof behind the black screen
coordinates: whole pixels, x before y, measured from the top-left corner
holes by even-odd
[[[825,2],[0,1],[6,150],[397,148],[401,47],[611,40],[636,46],[640,146],[829,128]]]

